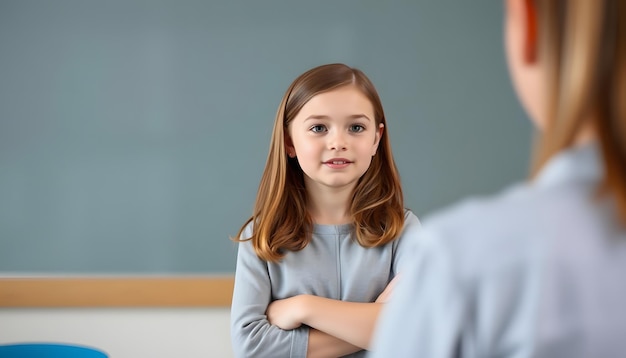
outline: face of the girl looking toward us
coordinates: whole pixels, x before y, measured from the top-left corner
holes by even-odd
[[[352,190],[376,154],[383,127],[369,99],[344,86],[311,98],[289,124],[285,144],[298,158],[309,193]]]

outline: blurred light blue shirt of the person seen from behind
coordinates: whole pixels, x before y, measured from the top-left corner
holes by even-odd
[[[626,357],[626,230],[595,146],[424,220],[373,358]]]

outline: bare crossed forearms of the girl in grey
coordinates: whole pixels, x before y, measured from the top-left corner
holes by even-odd
[[[313,295],[276,300],[267,308],[271,324],[291,330],[306,324],[307,357],[340,356],[368,349],[378,314],[397,281],[396,276],[375,302],[345,302]]]

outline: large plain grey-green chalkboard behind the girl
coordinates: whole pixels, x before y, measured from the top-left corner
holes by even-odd
[[[0,2],[0,273],[231,273],[279,101],[377,86],[418,216],[527,171],[500,2]]]

